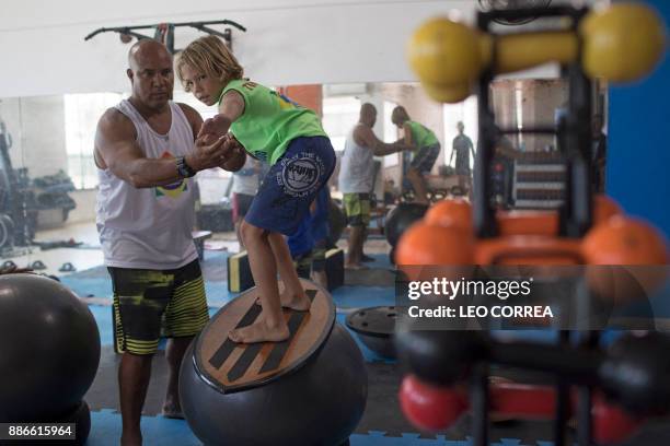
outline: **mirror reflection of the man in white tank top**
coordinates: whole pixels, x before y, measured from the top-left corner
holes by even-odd
[[[370,223],[370,193],[374,185],[374,157],[411,150],[403,143],[384,143],[374,136],[372,127],[377,121],[377,108],[366,103],[360,107],[360,118],[347,136],[339,167],[338,185],[343,192],[343,204],[349,225],[349,249],[345,268],[361,269],[362,246]]]

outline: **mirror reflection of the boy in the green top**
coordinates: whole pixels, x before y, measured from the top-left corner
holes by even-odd
[[[391,121],[397,128],[403,129],[405,144],[415,148],[409,167],[405,167],[406,164],[403,166],[403,171],[406,168],[403,183],[409,183],[414,189],[416,202],[429,204],[428,186],[424,177],[430,173],[440,154],[440,142],[431,130],[413,121],[405,107],[401,105],[393,109]]]

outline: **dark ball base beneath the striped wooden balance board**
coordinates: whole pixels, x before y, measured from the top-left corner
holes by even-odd
[[[338,446],[360,421],[368,374],[351,336],[336,324],[323,348],[268,384],[221,394],[194,366],[190,344],[180,373],[188,425],[206,445]]]

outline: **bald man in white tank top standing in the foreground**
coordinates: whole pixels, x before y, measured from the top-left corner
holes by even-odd
[[[171,338],[163,413],[174,418],[181,415],[182,357],[209,319],[190,235],[192,177],[217,166],[239,169],[245,155],[228,137],[195,141],[203,119],[189,106],[170,101],[174,75],[163,45],[138,42],[128,63],[132,95],[101,117],[94,154],[96,222],[114,289],[115,348],[124,353],[118,374],[122,445],[140,445],[140,415],[161,320]]]

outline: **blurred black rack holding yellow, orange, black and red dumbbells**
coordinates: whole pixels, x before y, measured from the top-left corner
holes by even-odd
[[[492,33],[489,28],[498,17],[519,20],[524,16],[562,17],[562,23],[567,23],[567,20],[571,22],[559,31],[552,28],[528,35],[516,33],[513,36],[501,36]],[[478,77],[475,85],[478,87],[480,144],[475,157],[472,223],[470,215],[467,219],[461,218],[455,210],[442,208],[439,209],[442,220],[427,219],[421,225],[413,226],[398,242],[398,266],[404,268],[401,272],[407,278],[423,280],[435,275],[426,267],[437,263],[458,268],[457,271],[446,272],[449,278],[458,274],[476,281],[483,277],[490,279],[482,268],[488,266],[515,266],[523,277],[528,277],[524,266],[539,266],[540,277],[546,277],[546,267],[561,265],[667,265],[668,254],[662,248],[662,237],[655,230],[646,227],[642,222],[625,219],[619,210],[608,210],[607,207],[611,208],[613,203],[596,200],[592,195],[589,156],[591,81],[587,79],[581,66],[584,59],[591,75],[602,75],[614,82],[639,79],[662,56],[663,24],[650,9],[631,3],[613,4],[609,10],[592,15],[587,9],[569,7],[493,11],[480,13],[477,26],[478,31],[473,31],[462,23],[436,19],[421,26],[412,40],[413,68],[419,74],[426,92],[437,101],[464,99],[473,93],[473,75]],[[635,38],[632,42],[645,42],[649,54],[640,54],[645,58],[632,58],[628,62],[625,55],[631,51],[623,51],[625,47],[615,44],[628,37]],[[477,48],[482,51],[481,60],[472,57],[472,51],[476,52]],[[454,63],[454,60],[460,63]],[[489,101],[489,86],[495,75],[550,60],[562,63],[562,75],[568,80],[566,116],[551,127],[522,130],[497,127]],[[613,60],[617,62],[616,69],[611,70],[609,66]],[[622,60],[625,63],[620,63]],[[436,63],[448,64],[436,69]],[[556,176],[553,183],[562,183],[564,190],[563,203],[556,211],[503,212],[498,209],[499,200],[492,199],[499,195],[499,188],[495,186],[500,183],[490,175],[492,171],[499,172],[495,163],[496,145],[503,137],[519,133],[547,134],[557,141],[565,171],[562,172],[562,181],[558,180],[558,172],[552,173]],[[525,174],[532,176],[531,173]],[[598,203],[596,212],[594,202]],[[619,235],[623,234],[620,233],[623,228],[631,231],[631,243],[627,242],[627,235]],[[639,234],[639,237],[633,234]],[[440,238],[439,245],[434,243],[437,238]],[[613,244],[624,239],[625,246]],[[413,266],[421,268],[414,271]],[[470,269],[463,270],[463,266]],[[477,268],[473,269],[475,266]],[[600,294],[605,301],[612,302],[613,298],[616,302],[617,295],[611,289],[602,291],[601,286],[619,286],[613,283],[613,279],[622,279],[622,275],[608,279],[588,272],[550,271],[553,280],[574,281],[570,296],[575,300],[576,318],[569,320],[588,325],[559,326],[558,340],[553,345],[520,341],[495,342],[489,336],[477,340],[475,338],[480,336],[472,330],[450,332],[443,327],[439,327],[441,330],[429,329],[434,326],[416,326],[398,331],[398,356],[409,373],[427,384],[421,388],[421,383],[417,380],[418,385],[414,386],[412,383],[415,377],[407,376],[401,388],[401,403],[415,425],[439,430],[453,421],[462,412],[459,397],[457,395],[454,398],[452,391],[459,389],[444,387],[469,379],[467,408],[473,416],[472,443],[487,446],[488,411],[500,408],[496,406],[499,401],[492,401],[489,387],[493,386],[488,383],[490,364],[535,371],[555,379],[555,399],[550,401],[555,410],[553,413],[551,410],[544,412],[554,416],[554,444],[557,446],[566,445],[568,413],[576,416],[577,443],[580,446],[591,446],[592,418],[603,420],[602,413],[596,414],[599,409],[593,407],[592,389],[596,387],[636,416],[670,413],[670,388],[667,386],[670,360],[660,353],[670,348],[669,338],[658,336],[656,343],[651,344],[648,343],[652,341],[650,337],[645,337],[642,342],[624,339],[623,344],[615,343],[607,357],[598,345],[599,331],[589,330],[598,316],[597,309],[591,308],[598,302],[594,294]],[[637,280],[635,277],[631,279]],[[659,280],[662,279],[659,277]],[[446,302],[439,300],[442,294],[435,293],[437,302],[434,302],[434,297],[428,301],[428,305],[442,305]],[[476,303],[476,296],[474,300]],[[447,312],[448,317],[452,317],[450,313]],[[460,312],[458,314],[462,315]],[[561,310],[558,314],[567,315]],[[416,317],[411,314],[408,316]],[[451,328],[472,328],[470,324],[466,321]],[[489,329],[488,325],[481,328]],[[406,387],[405,382],[409,383]],[[573,389],[575,394],[570,394]],[[570,395],[576,396],[574,412],[570,412],[570,406],[575,400],[570,400]],[[522,398],[520,395],[516,397]],[[525,413],[533,411],[529,409],[531,406],[525,408]],[[510,413],[519,412],[510,410]],[[623,424],[617,424],[624,418],[610,418],[605,414],[604,419],[613,427],[611,433],[617,437],[624,434],[619,430]],[[598,438],[607,442],[610,438],[607,434],[599,434]]]

